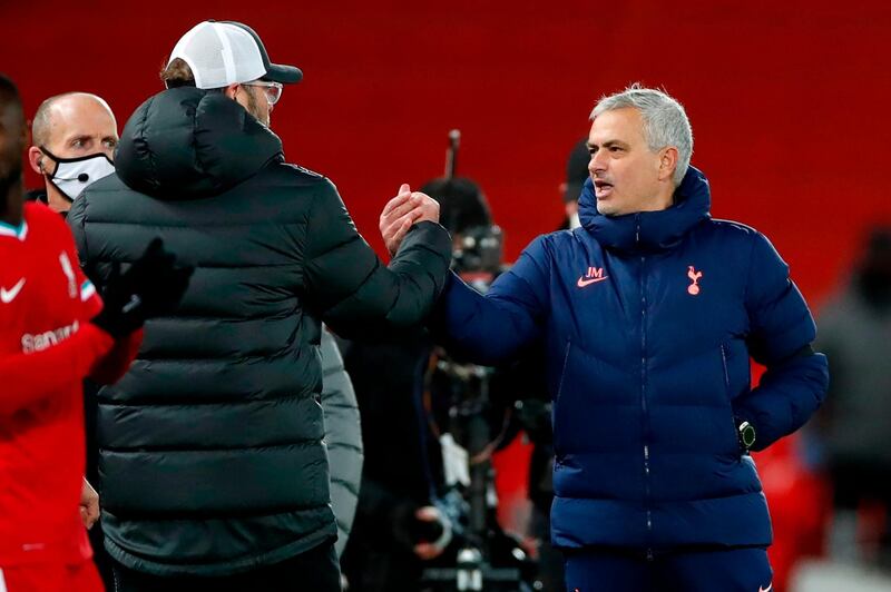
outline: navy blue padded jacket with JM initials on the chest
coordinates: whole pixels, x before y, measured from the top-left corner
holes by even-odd
[[[829,373],[770,241],[708,214],[691,167],[662,211],[601,216],[532,241],[483,297],[450,279],[433,328],[479,364],[545,341],[557,545],[767,545],[771,522],[735,418],[762,450],[801,427]],[[802,352],[805,353],[802,353]],[[750,356],[767,367],[750,388]]]

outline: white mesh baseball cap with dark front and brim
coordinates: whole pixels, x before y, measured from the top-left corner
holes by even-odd
[[[198,88],[223,88],[251,80],[292,85],[303,79],[294,66],[272,63],[263,41],[241,22],[199,22],[176,42],[170,59],[179,58],[192,69]]]

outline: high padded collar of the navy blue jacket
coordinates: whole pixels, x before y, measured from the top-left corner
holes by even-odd
[[[597,211],[591,179],[579,198],[579,220],[604,247],[623,251],[663,250],[677,245],[699,221],[708,218],[712,204],[708,179],[689,167],[675,190],[674,204],[660,211],[604,216]]]

